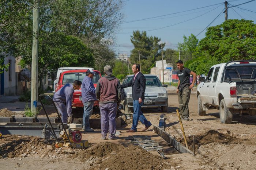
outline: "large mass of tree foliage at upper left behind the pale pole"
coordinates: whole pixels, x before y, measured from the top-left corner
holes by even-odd
[[[31,65],[33,0],[0,2],[0,49]],[[111,35],[122,19],[121,1],[41,0],[39,3],[39,79],[62,66],[102,69],[113,62]],[[4,29],[1,29],[4,28]],[[0,66],[1,69],[1,66]]]

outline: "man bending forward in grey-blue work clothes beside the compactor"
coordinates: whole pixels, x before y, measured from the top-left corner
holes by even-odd
[[[53,101],[61,114],[63,123],[71,123],[72,98],[75,90],[80,89],[82,82],[75,80],[72,84],[65,84],[53,95]]]

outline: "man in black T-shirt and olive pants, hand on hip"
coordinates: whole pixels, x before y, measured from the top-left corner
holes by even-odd
[[[193,86],[195,84],[196,73],[192,72],[188,68],[185,68],[181,60],[177,61],[176,65],[179,69],[177,72],[179,78],[177,93],[180,107],[180,116],[181,119],[189,120],[188,102],[190,98],[191,89],[193,89]],[[190,75],[193,75],[192,84],[190,84],[189,82]]]

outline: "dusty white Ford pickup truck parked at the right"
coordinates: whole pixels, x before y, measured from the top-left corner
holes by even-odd
[[[219,109],[222,123],[231,123],[233,114],[256,114],[256,60],[230,61],[210,68],[196,89],[198,114]]]

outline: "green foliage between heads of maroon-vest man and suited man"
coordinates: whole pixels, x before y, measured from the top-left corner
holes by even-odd
[[[127,62],[116,59],[113,67],[113,76],[116,76],[120,81],[123,81],[125,76],[128,75]]]

